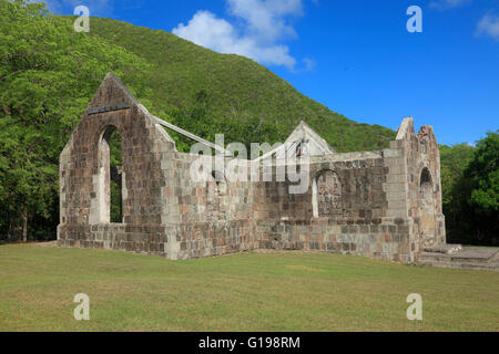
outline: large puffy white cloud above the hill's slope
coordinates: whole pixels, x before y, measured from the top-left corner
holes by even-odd
[[[220,53],[295,70],[296,59],[281,42],[297,37],[289,18],[303,14],[302,0],[226,0],[226,4],[237,24],[200,10],[187,24],[180,23],[172,32]],[[312,61],[305,63],[310,66]]]

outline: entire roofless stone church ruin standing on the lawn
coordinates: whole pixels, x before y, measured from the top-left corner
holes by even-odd
[[[122,136],[122,223],[110,219],[111,129]],[[196,155],[108,74],[61,154],[60,246],[189,259],[255,249],[316,250],[409,263],[446,243],[440,160],[430,126],[406,118],[390,148],[337,154],[306,124],[310,186],[190,176]],[[228,158],[227,158],[228,160]],[[259,164],[259,162],[251,162]],[[274,164],[276,162],[274,160]],[[275,167],[275,166],[274,166]]]

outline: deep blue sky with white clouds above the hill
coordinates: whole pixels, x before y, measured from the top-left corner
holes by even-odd
[[[410,115],[448,145],[499,128],[499,0],[48,2],[251,56],[356,122],[397,129]],[[421,33],[407,31],[410,6]]]

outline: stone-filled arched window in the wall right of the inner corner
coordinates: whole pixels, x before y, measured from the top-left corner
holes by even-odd
[[[343,214],[342,181],[336,173],[320,173],[313,183],[314,217],[333,217]]]

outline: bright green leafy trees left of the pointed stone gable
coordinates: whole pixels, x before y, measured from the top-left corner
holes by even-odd
[[[53,21],[43,3],[0,0],[2,235],[57,222],[59,154],[89,97],[110,71],[142,95],[145,69],[123,48]]]

